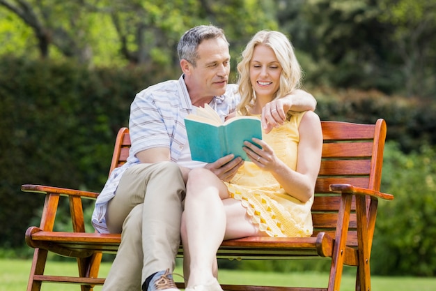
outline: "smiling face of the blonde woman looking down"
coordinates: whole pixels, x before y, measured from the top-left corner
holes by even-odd
[[[266,45],[254,48],[250,61],[250,82],[257,98],[272,100],[280,87],[281,66],[274,51]]]

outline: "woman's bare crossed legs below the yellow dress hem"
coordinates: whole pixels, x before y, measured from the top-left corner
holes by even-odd
[[[265,235],[241,202],[229,197],[225,184],[205,169],[189,172],[181,234],[187,288],[215,281],[216,253],[224,239]]]

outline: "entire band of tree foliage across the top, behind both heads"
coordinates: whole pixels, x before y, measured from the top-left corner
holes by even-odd
[[[307,84],[436,95],[435,0],[0,0],[1,14],[0,54],[178,68],[181,34],[212,23],[226,31],[235,73],[249,38],[279,29]]]

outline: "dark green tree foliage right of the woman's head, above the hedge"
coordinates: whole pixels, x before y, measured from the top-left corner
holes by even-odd
[[[316,85],[435,98],[436,1],[277,1]]]

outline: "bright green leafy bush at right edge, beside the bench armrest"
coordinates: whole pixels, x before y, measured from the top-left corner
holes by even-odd
[[[436,148],[405,155],[389,142],[382,191],[394,194],[380,203],[373,245],[373,270],[380,275],[436,275]],[[413,267],[411,267],[413,266]]]

